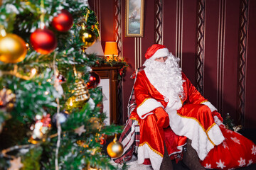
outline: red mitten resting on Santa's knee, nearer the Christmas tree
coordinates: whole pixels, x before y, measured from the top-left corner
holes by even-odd
[[[154,110],[154,114],[156,115],[156,124],[161,128],[167,128],[169,126],[169,115],[164,111],[164,108],[156,108]]]

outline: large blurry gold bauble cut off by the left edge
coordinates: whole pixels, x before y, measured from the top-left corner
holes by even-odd
[[[0,37],[0,61],[6,63],[21,62],[26,57],[27,47],[22,38],[15,34]]]

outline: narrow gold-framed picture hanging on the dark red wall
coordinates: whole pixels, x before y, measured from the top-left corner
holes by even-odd
[[[126,0],[125,3],[125,36],[143,37],[144,33],[144,0]]]

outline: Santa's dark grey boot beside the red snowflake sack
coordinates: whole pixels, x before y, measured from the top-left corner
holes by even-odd
[[[183,163],[191,170],[205,170],[199,162],[196,150],[191,146],[191,140],[187,141],[186,152],[183,155]]]

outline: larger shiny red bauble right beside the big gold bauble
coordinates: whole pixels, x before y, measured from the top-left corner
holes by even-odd
[[[57,47],[57,40],[53,31],[48,29],[37,29],[30,36],[31,45],[36,52],[47,55]]]

